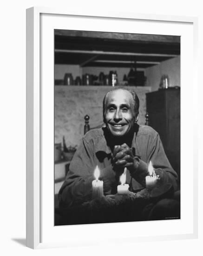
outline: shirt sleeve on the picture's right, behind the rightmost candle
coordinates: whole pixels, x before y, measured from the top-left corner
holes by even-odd
[[[160,177],[160,183],[171,183],[174,190],[176,190],[178,179],[177,173],[171,167],[170,162],[165,155],[164,147],[157,132],[154,136],[148,138],[147,163],[149,164],[150,161],[152,162],[156,175],[159,175]],[[141,159],[137,170],[131,172],[131,176],[144,187],[146,186],[145,177],[149,175],[147,163]]]

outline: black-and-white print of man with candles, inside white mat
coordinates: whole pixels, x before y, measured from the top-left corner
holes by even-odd
[[[54,225],[181,219],[180,36],[54,29]]]

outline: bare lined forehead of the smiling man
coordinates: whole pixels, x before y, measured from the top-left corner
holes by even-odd
[[[106,95],[106,104],[131,104],[133,103],[132,94],[126,90],[111,91]]]

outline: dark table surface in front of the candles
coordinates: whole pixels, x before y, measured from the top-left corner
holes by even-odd
[[[136,194],[107,195],[74,207],[55,209],[55,225],[146,221],[157,205],[162,211],[161,214],[159,210],[158,214],[155,213],[157,219],[180,218],[180,202],[174,199],[174,194],[153,199],[143,189]]]

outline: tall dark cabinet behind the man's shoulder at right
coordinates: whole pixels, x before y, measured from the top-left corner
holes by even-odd
[[[165,153],[180,179],[180,88],[146,94],[149,125],[160,135]]]

